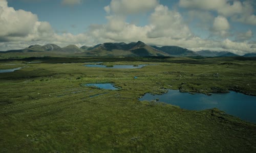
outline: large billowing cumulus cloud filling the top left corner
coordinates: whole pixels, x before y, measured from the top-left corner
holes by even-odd
[[[34,41],[51,37],[53,29],[49,22],[38,21],[37,15],[8,7],[0,2],[0,41]]]

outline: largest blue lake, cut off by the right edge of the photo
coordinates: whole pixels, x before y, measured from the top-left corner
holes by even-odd
[[[189,94],[179,90],[168,90],[162,95],[146,93],[139,100],[156,100],[167,104],[179,106],[187,110],[205,110],[218,108],[227,114],[237,116],[243,120],[256,123],[256,96],[230,91],[230,93],[214,93],[211,96],[205,94]]]

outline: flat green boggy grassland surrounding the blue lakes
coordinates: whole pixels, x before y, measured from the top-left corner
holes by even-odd
[[[84,62],[155,65],[108,69]],[[0,73],[0,152],[256,151],[253,123],[217,109],[188,111],[138,100],[166,89],[256,95],[255,58],[0,60],[1,69],[16,67],[23,68]],[[83,86],[88,83],[114,83],[119,90]]]

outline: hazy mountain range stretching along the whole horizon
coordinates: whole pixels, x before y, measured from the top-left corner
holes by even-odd
[[[217,52],[211,50],[201,50],[194,52],[192,50],[182,48],[179,46],[150,46],[142,41],[131,43],[103,43],[95,46],[82,46],[68,45],[66,47],[59,47],[55,44],[31,45],[24,49],[8,50],[5,53],[36,53],[36,54],[55,54],[55,55],[76,55],[76,56],[172,56],[172,57],[233,57],[239,56],[230,52]],[[246,57],[256,56],[256,53],[244,55]]]

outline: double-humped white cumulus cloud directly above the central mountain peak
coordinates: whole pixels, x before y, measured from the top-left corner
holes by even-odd
[[[150,16],[150,23],[143,27],[127,23],[124,16],[110,15],[106,19],[108,19],[108,23],[90,27],[90,35],[98,39],[99,42],[141,40],[159,43],[166,38],[187,39],[193,37],[188,26],[183,22],[181,14],[177,11],[170,11],[163,5],[158,5],[155,8]]]

